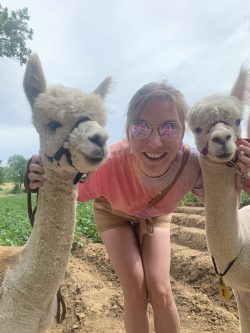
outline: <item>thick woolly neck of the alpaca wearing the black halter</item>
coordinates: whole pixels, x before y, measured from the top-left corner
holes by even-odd
[[[70,254],[76,190],[68,173],[46,170],[47,181],[39,190],[31,236],[12,270],[12,281],[41,308],[55,295],[64,278]]]

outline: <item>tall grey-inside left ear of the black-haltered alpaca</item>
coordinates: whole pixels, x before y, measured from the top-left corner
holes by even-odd
[[[31,107],[37,96],[46,91],[46,80],[40,59],[36,53],[32,54],[24,73],[23,87]]]

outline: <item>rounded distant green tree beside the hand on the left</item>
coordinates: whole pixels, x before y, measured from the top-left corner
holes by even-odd
[[[8,178],[21,189],[26,172],[27,160],[22,155],[13,155],[8,159]]]

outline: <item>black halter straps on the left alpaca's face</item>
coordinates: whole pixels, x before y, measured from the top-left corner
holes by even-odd
[[[84,117],[81,117],[76,123],[75,125],[72,127],[71,131],[69,132],[69,135],[71,132],[73,132],[73,130],[75,128],[77,128],[81,123],[84,123],[86,121],[92,121],[92,119],[90,117],[87,117],[87,116],[84,116]],[[65,148],[64,145],[67,143],[68,141],[68,138],[69,138],[69,135],[68,137],[64,140],[64,142],[62,143],[61,147],[55,152],[55,154],[53,156],[49,156],[49,155],[46,155],[45,156],[47,157],[47,159],[53,163],[53,161],[55,160],[56,162],[60,161],[60,159],[62,158],[63,155],[66,156],[66,159],[68,161],[68,163],[74,167],[76,170],[77,168],[74,166],[73,162],[72,162],[72,158],[71,158],[71,153],[70,153],[70,150],[68,148]],[[78,172],[74,178],[74,181],[73,183],[74,184],[77,184],[79,181],[80,182],[85,182],[87,181],[87,177],[88,177],[88,173],[82,173],[82,172]]]

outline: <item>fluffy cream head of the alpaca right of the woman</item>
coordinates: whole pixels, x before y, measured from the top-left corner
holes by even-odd
[[[236,154],[248,81],[249,73],[242,67],[230,95],[213,94],[203,98],[188,113],[197,149],[211,160],[225,163]]]

